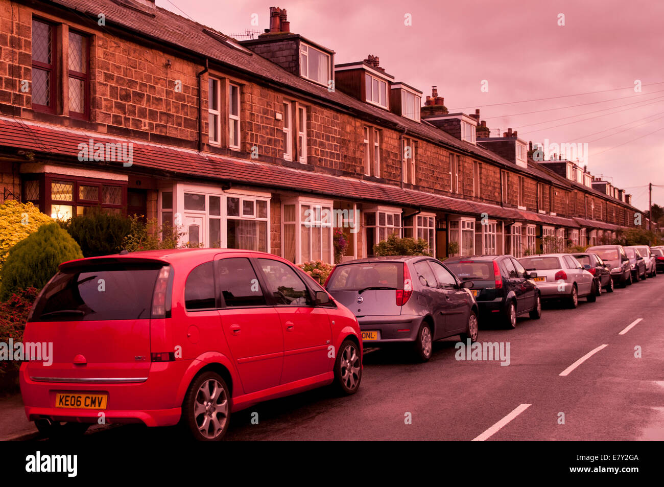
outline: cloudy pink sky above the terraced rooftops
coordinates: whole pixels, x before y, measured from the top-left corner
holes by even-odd
[[[663,185],[653,188],[653,203],[664,205],[662,1],[157,0],[157,5],[229,35],[262,31],[269,27],[269,7],[285,8],[291,32],[335,50],[337,64],[380,56],[380,66],[424,96],[438,86],[450,112],[479,108],[492,135],[511,127],[523,140],[588,143],[594,175],[626,189],[641,209],[648,205],[647,183]],[[258,27],[251,25],[254,13]],[[404,25],[406,13],[411,26]],[[488,81],[488,92],[481,92],[482,80]],[[641,80],[641,92],[633,89],[635,80]],[[505,104],[601,90],[612,91]],[[593,103],[603,100],[611,101]]]

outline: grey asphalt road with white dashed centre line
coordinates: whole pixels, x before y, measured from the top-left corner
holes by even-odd
[[[526,315],[515,330],[480,323],[479,341],[509,342],[508,366],[457,361],[456,337],[435,343],[424,364],[398,349],[371,351],[356,395],[324,388],[256,405],[232,415],[226,440],[664,440],[664,275],[595,303],[582,298],[576,310],[543,308],[540,320]],[[95,427],[84,441],[174,432]]]

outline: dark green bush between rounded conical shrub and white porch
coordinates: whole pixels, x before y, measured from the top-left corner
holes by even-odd
[[[95,209],[60,225],[80,245],[84,256],[96,257],[120,252],[122,241],[131,232],[131,223],[131,219],[117,213]]]

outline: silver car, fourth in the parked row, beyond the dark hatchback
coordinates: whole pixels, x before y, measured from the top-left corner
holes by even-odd
[[[570,308],[578,306],[578,298],[588,302],[597,299],[595,279],[571,254],[543,254],[523,257],[519,262],[527,271],[537,271],[533,278],[543,300],[563,300]]]

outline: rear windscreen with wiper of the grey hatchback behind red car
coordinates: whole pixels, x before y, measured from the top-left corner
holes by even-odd
[[[360,262],[338,266],[327,283],[327,290],[352,291],[365,288],[398,289],[403,284],[403,262]]]

